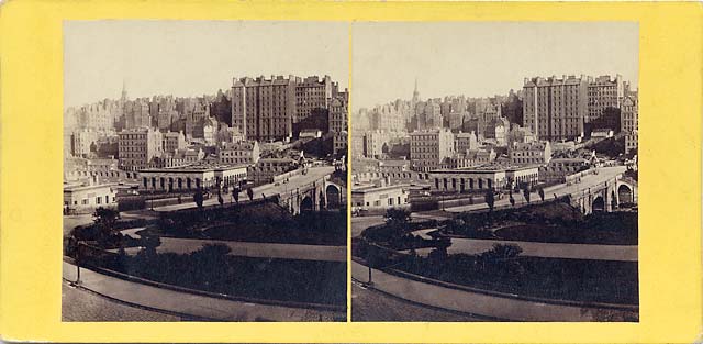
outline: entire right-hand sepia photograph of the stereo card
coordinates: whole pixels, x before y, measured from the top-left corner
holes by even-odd
[[[639,321],[636,22],[352,42],[353,321]]]

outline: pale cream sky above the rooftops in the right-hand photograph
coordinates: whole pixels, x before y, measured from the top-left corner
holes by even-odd
[[[411,99],[487,97],[525,77],[620,74],[638,82],[635,22],[354,23],[353,110]]]

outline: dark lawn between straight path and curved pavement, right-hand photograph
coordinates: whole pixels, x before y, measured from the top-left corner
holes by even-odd
[[[486,290],[582,302],[639,303],[636,262],[518,257],[522,273],[480,270],[469,255],[449,255],[443,264],[408,258],[397,268],[433,279]]]

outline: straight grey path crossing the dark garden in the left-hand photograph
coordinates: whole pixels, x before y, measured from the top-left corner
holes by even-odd
[[[136,232],[144,228],[130,229],[122,231],[135,238],[140,237]],[[232,249],[233,256],[257,257],[257,258],[282,258],[282,259],[302,259],[302,260],[325,260],[325,262],[346,262],[346,246],[325,246],[325,245],[302,245],[302,244],[275,244],[275,243],[250,243],[250,242],[233,242],[219,240],[200,240],[200,238],[176,238],[161,237],[161,245],[156,247],[157,253],[177,253],[188,254],[196,252],[207,244],[222,244]],[[135,255],[141,247],[126,248],[130,255]],[[109,249],[118,252],[116,249]]]

